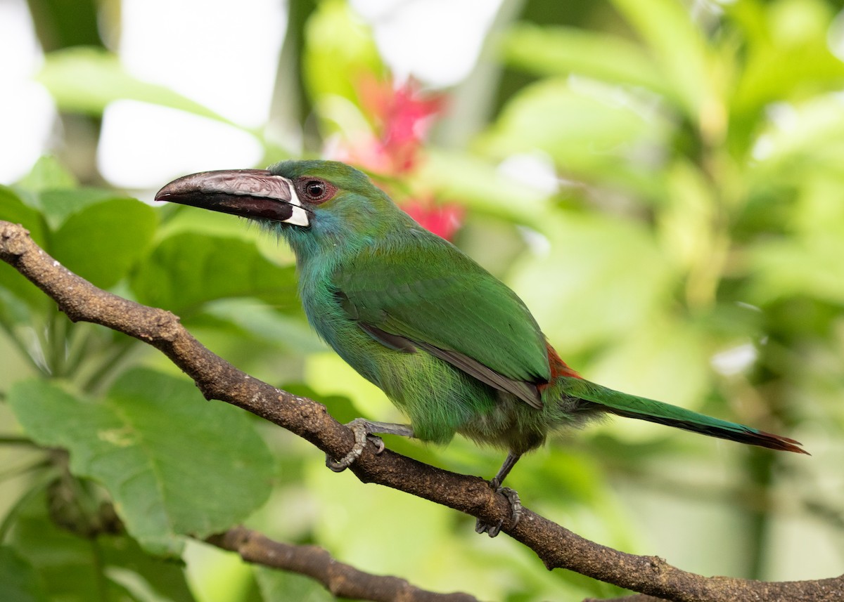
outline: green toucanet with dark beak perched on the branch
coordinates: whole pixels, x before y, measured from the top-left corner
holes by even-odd
[[[516,293],[348,165],[284,161],[203,172],[155,198],[250,218],[284,238],[313,328],[408,416],[409,425],[354,421],[354,449],[329,462],[335,470],[360,456],[371,433],[435,443],[461,433],[508,451],[491,481],[498,489],[550,431],[607,413],[806,453],[790,438],[582,379]],[[505,493],[517,519],[517,496]],[[490,535],[499,528],[479,525]]]

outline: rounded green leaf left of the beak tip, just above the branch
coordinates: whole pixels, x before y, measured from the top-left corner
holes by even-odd
[[[157,221],[152,207],[134,199],[100,202],[73,213],[50,251],[68,270],[109,288],[145,255]]]

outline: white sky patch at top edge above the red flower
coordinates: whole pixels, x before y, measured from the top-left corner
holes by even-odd
[[[436,87],[472,70],[500,0],[351,0],[398,79]]]

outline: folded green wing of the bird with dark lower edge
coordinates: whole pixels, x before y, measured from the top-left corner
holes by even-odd
[[[387,347],[421,347],[541,406],[548,347],[516,293],[456,247],[420,237],[344,261],[333,277],[346,314]]]

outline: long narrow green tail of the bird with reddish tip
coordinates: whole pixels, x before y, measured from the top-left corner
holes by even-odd
[[[602,387],[600,384],[591,383],[588,380],[568,376],[560,378],[565,382],[563,385],[565,395],[591,402],[601,406],[604,411],[618,416],[658,422],[669,427],[683,428],[693,433],[702,433],[710,437],[729,439],[749,445],[759,445],[763,448],[809,454],[805,449],[799,447],[802,443],[794,439],[745,427],[743,424],[736,422],[727,422],[726,420],[698,414],[695,411],[685,410],[662,401],[627,395]]]

